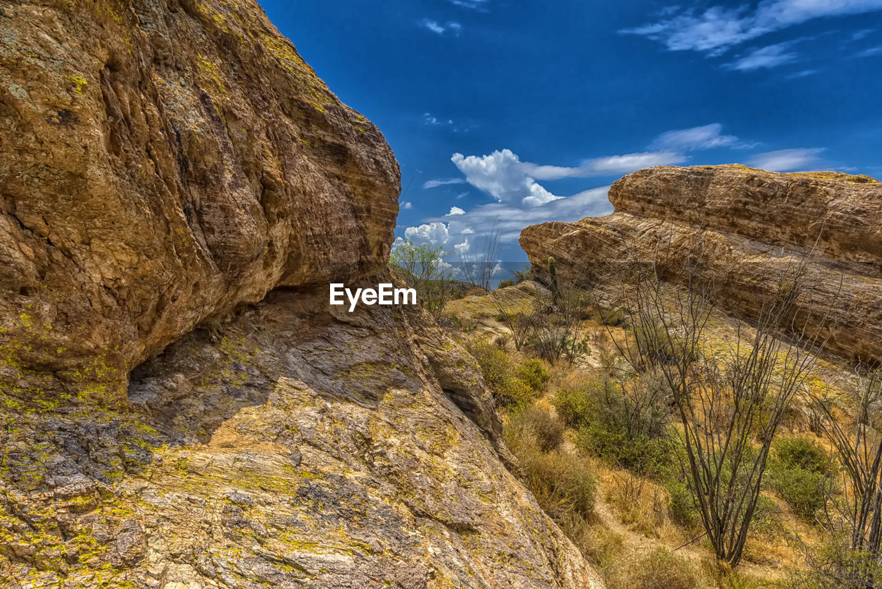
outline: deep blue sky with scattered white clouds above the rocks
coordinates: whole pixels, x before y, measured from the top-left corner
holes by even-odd
[[[882,0],[265,0],[398,156],[396,234],[475,252],[650,165],[882,177]]]

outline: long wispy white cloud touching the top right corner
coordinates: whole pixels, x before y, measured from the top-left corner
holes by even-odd
[[[620,33],[639,34],[672,51],[720,55],[730,47],[807,20],[882,10],[882,0],[762,0],[752,10],[711,6],[705,11],[672,7],[666,18]]]

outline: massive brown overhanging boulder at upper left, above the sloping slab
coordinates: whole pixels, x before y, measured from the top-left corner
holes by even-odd
[[[11,3],[0,30],[0,382],[20,396],[385,258],[391,150],[256,3]]]

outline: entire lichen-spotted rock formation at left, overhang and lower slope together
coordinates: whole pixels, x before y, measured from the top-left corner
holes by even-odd
[[[376,283],[382,135],[250,0],[0,8],[0,585],[582,587]]]

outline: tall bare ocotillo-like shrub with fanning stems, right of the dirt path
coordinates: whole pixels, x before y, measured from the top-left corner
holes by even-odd
[[[796,321],[797,312],[805,313],[797,300],[811,298],[806,257],[781,270],[776,288],[760,301],[752,330],[739,324],[734,344],[710,351],[706,328],[721,285],[702,273],[701,245],[689,249],[699,254],[676,264],[632,256],[620,283],[633,327],[617,346],[634,373],[657,371],[667,383],[679,422],[672,431],[684,449],[682,469],[695,508],[717,560],[735,566],[757,510],[774,432],[804,388],[818,331],[801,328],[809,324],[804,317]],[[665,280],[661,268],[669,273]],[[782,332],[794,334],[790,344]]]

